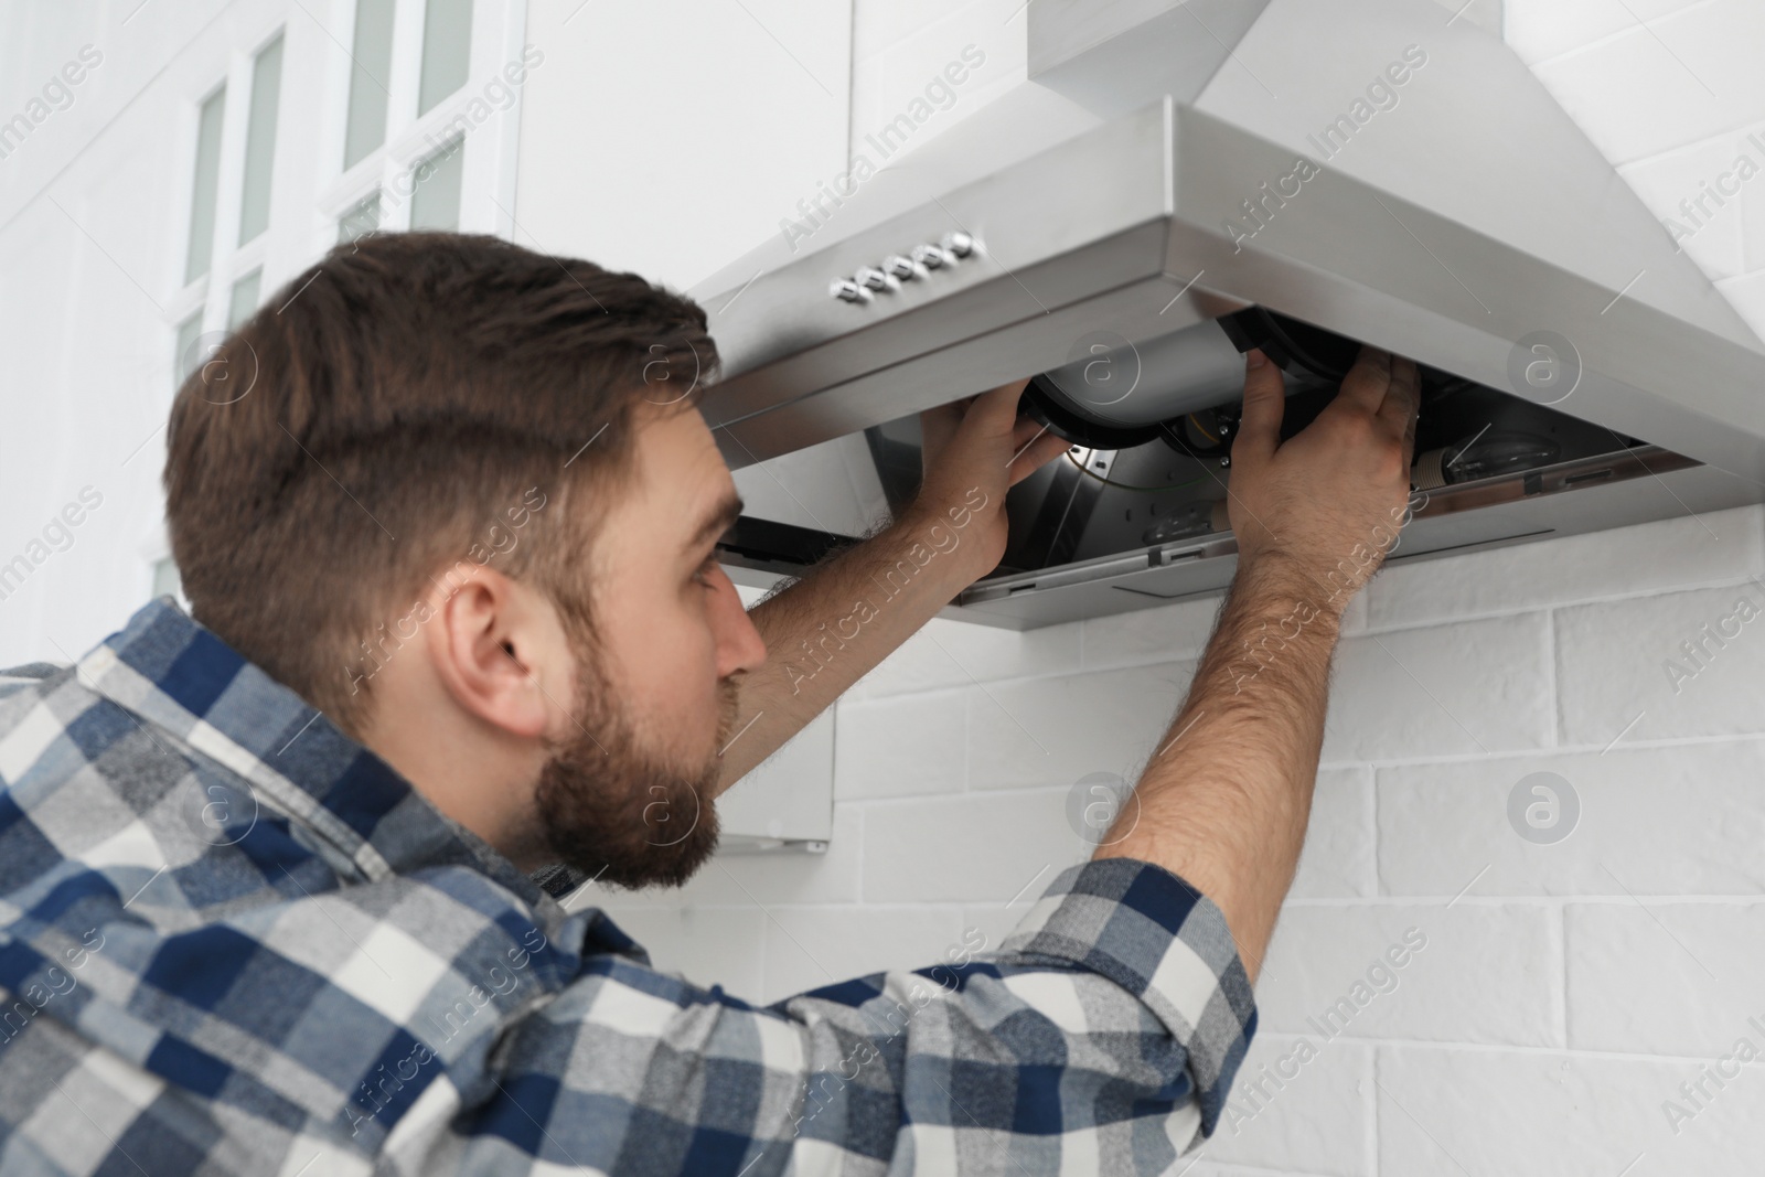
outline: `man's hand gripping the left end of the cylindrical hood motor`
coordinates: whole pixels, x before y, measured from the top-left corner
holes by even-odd
[[[925,445],[920,461],[925,476],[913,512],[943,517],[951,506],[973,506],[971,491],[987,496],[974,512],[964,547],[973,544],[974,577],[990,572],[1004,556],[1004,492],[1052,457],[1066,450],[1066,441],[1029,418],[1018,420],[1017,402],[1027,379],[1001,385],[992,392],[953,401],[920,413]]]

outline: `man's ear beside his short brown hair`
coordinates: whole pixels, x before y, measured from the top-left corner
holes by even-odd
[[[542,595],[494,568],[434,602],[429,658],[461,708],[510,736],[538,738],[572,701],[574,660]]]

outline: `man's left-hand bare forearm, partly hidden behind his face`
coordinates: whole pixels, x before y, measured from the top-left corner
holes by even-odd
[[[969,538],[985,506],[976,489],[955,506],[911,508],[750,611],[768,656],[741,685],[718,789],[777,752],[987,572]]]

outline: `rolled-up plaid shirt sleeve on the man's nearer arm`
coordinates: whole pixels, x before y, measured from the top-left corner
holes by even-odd
[[[597,958],[413,1172],[1161,1173],[1213,1133],[1255,1023],[1220,909],[1093,861],[999,951],[768,1008]]]

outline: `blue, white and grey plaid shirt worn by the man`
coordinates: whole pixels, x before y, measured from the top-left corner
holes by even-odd
[[[0,672],[0,1172],[1154,1173],[1255,1027],[1220,911],[757,1008],[567,912],[169,598]]]

